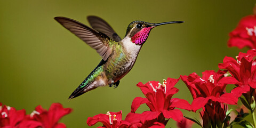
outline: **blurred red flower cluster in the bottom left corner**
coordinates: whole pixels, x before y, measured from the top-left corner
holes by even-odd
[[[70,112],[70,108],[63,108],[60,103],[52,103],[48,111],[37,106],[33,113],[26,115],[25,109],[16,110],[0,103],[0,127],[64,128],[66,125],[59,123],[59,119]]]

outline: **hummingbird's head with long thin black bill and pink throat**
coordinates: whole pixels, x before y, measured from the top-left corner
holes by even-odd
[[[135,44],[143,44],[146,42],[150,30],[156,26],[166,25],[169,23],[182,23],[183,21],[171,21],[163,23],[149,23],[144,21],[133,21],[127,27],[126,35],[131,38],[131,41]]]

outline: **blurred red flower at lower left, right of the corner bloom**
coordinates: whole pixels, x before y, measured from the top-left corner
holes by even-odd
[[[63,108],[60,103],[52,103],[48,111],[39,105],[33,113],[27,115],[26,121],[22,122],[22,126],[63,128],[66,125],[58,123],[58,121],[62,116],[69,114],[71,111],[71,108]]]

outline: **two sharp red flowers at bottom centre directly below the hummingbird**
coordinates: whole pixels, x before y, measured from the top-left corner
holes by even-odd
[[[172,98],[173,94],[179,90],[173,87],[179,79],[167,78],[163,84],[150,81],[146,84],[141,82],[137,84],[146,98],[137,97],[132,102],[131,113],[127,114],[122,121],[122,111],[118,113],[108,112],[107,114],[99,114],[87,119],[89,126],[97,122],[103,124],[102,127],[164,127],[170,118],[179,123],[183,120],[183,114],[179,109],[190,110],[188,101]],[[137,114],[135,111],[141,104],[146,103],[149,111]],[[167,118],[167,120],[166,120]],[[183,122],[185,125],[186,121]]]

